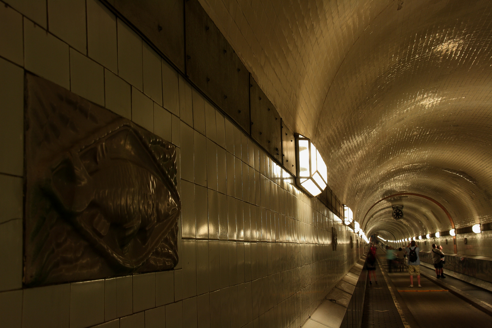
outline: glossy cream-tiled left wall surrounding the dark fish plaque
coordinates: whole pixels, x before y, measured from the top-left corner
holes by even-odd
[[[9,5],[0,2],[1,327],[299,327],[362,255],[361,240],[101,3]],[[174,270],[22,288],[24,70],[177,147]]]

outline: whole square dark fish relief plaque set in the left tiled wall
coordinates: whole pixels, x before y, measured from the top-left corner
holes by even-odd
[[[24,283],[174,268],[174,146],[29,73],[25,90]]]

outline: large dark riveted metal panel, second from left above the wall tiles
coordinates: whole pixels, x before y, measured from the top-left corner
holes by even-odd
[[[198,0],[185,2],[186,74],[249,132],[249,72]]]

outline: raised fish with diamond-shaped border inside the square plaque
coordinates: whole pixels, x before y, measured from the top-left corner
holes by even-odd
[[[111,265],[135,271],[176,229],[175,162],[174,146],[116,121],[56,158],[46,188]]]

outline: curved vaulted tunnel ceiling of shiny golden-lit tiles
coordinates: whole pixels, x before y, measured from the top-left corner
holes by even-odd
[[[491,1],[200,2],[367,232],[492,221]]]

